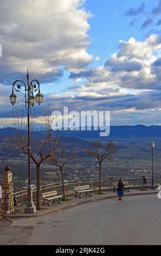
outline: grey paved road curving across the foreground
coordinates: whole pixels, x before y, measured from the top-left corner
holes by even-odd
[[[160,245],[157,194],[102,200],[39,218],[0,222],[0,244]]]

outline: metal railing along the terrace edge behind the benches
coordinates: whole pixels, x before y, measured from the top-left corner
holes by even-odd
[[[102,178],[101,188],[113,188],[113,184],[118,182],[119,177],[114,178]],[[144,186],[143,178],[141,177],[123,177],[123,182],[128,182],[130,186]],[[151,177],[146,177],[146,185],[151,185]],[[154,177],[154,184],[161,184],[161,176]],[[99,187],[99,179],[84,179],[84,180],[71,180],[64,182],[65,192],[73,192],[74,187],[90,185],[91,188],[97,189]],[[48,184],[40,187],[40,194],[45,192],[57,191],[58,194],[63,193],[63,186],[61,182]],[[16,205],[23,205],[27,202],[27,190],[14,193],[16,199]],[[36,199],[36,188],[33,188],[33,200]]]

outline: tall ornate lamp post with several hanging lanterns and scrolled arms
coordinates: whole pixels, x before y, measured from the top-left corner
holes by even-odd
[[[43,95],[40,93],[40,83],[38,80],[32,80],[29,82],[29,74],[27,68],[27,84],[22,80],[16,80],[13,83],[13,90],[10,94],[10,103],[15,105],[16,103],[16,94],[15,92],[22,93],[25,98],[25,105],[27,108],[27,135],[28,135],[28,187],[27,187],[27,203],[24,208],[24,212],[26,214],[33,214],[36,211],[36,208],[33,203],[33,194],[32,194],[32,186],[31,186],[31,170],[30,170],[30,106],[34,106],[35,102],[39,105],[42,103]],[[21,84],[21,85],[20,85]],[[24,87],[24,93],[21,92],[22,87]],[[38,91],[38,93],[34,96],[34,93]]]

